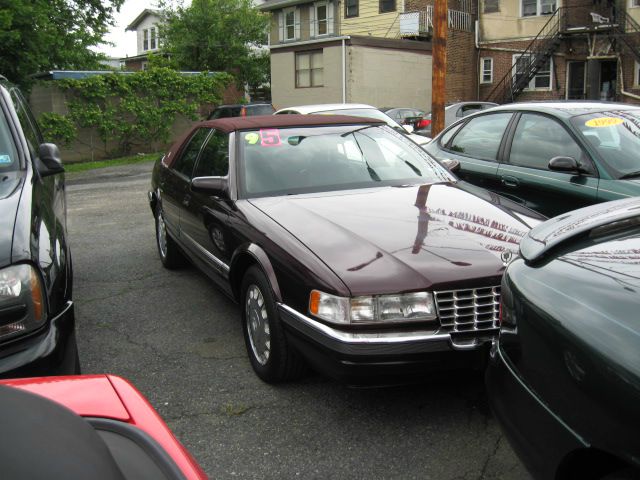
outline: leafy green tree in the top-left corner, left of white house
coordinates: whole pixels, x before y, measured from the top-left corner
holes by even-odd
[[[0,0],[0,73],[28,87],[34,73],[94,69],[124,0]]]

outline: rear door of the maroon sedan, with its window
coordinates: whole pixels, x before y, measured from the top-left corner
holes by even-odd
[[[184,243],[180,238],[181,210],[189,202],[189,182],[191,182],[200,150],[210,133],[210,128],[198,128],[173,164],[161,171],[160,201],[164,211],[164,221],[171,236],[181,244]]]

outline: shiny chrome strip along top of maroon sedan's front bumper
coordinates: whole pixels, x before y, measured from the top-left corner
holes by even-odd
[[[396,344],[396,343],[406,343],[406,342],[420,342],[420,341],[447,341],[449,342],[451,337],[448,333],[433,333],[432,331],[422,331],[422,332],[404,332],[404,333],[396,333],[396,332],[388,332],[388,333],[353,333],[353,332],[344,332],[342,330],[337,330],[335,328],[331,328],[324,323],[320,323],[317,320],[313,320],[305,315],[302,315],[297,310],[285,305],[284,303],[278,303],[278,308],[281,308],[288,314],[295,317],[297,320],[301,321],[308,327],[313,328],[314,330],[330,337],[334,340],[343,343],[351,343],[358,345],[367,345],[367,344]]]

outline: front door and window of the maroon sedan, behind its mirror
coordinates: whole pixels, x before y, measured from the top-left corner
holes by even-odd
[[[229,134],[212,130],[200,151],[193,172],[196,177],[229,177]],[[180,217],[184,241],[221,286],[227,286],[235,242],[229,231],[231,202],[190,191]]]

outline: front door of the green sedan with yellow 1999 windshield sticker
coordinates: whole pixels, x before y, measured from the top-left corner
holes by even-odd
[[[592,173],[549,170],[553,157],[573,157]],[[523,113],[518,119],[506,161],[498,169],[498,193],[547,216],[597,202],[598,176],[591,159],[556,119]]]

